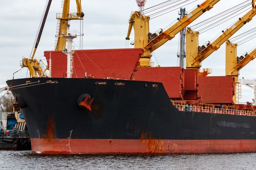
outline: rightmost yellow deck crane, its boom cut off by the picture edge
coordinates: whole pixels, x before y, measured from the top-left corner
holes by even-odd
[[[237,102],[237,84],[240,83],[238,81],[239,70],[256,58],[256,49],[249,54],[245,52],[240,57],[237,57],[236,48],[237,44],[233,44],[230,41],[226,42],[226,76],[233,76],[235,79],[235,95],[233,101]]]

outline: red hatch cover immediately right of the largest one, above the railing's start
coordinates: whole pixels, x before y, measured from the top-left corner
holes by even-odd
[[[180,67],[138,68],[135,80],[161,82],[171,99],[182,99],[183,69]]]

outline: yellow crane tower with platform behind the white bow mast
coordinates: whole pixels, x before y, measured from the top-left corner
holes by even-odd
[[[57,29],[56,29],[56,42],[55,50],[62,51],[66,47],[66,39],[61,36],[62,32],[67,30],[67,26],[70,20],[82,20],[84,13],[81,8],[81,0],[76,0],[77,3],[77,13],[69,13],[70,0],[62,0],[63,10],[62,13],[56,15],[58,19]]]

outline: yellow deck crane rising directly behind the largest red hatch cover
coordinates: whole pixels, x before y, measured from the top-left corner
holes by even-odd
[[[197,17],[204,12],[209,11],[219,0],[205,0],[202,4],[197,5],[191,13],[179,19],[177,23],[168,28],[166,31],[159,30],[158,33],[149,33],[149,16],[143,16],[139,12],[135,12],[129,19],[129,29],[126,39],[129,39],[132,27],[135,31],[135,48],[143,48],[144,53],[140,57],[141,67],[150,67],[151,53],[157,50],[167,41],[173,39],[183,28],[188,26]]]

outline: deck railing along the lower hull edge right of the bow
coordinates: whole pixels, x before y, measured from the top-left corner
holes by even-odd
[[[188,105],[188,104],[182,104],[182,103],[174,103],[173,105],[179,111],[203,112],[203,113],[214,113],[214,114],[256,117],[256,111],[239,110],[239,109],[226,109],[226,108],[213,108],[213,107],[206,107],[206,106]]]

